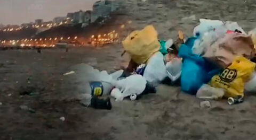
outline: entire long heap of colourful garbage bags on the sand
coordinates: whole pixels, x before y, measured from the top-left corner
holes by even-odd
[[[248,34],[237,22],[200,19],[194,36],[159,40],[153,25],[136,30],[122,45],[131,56],[127,68],[108,74],[84,64],[89,72],[83,104],[111,109],[109,98],[136,100],[156,93],[161,83],[180,84],[181,90],[199,99],[227,99],[229,104],[243,102],[245,92],[256,92],[256,29]],[[88,77],[87,77],[88,78]]]

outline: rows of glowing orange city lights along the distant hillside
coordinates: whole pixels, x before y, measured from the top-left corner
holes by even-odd
[[[126,23],[130,23],[126,22]],[[59,24],[66,24],[65,22],[61,22]],[[39,27],[47,27],[50,28],[51,26],[56,26],[56,23],[47,23],[44,25],[33,25],[33,28]],[[125,28],[125,25],[121,25],[121,28]],[[19,27],[17,30],[23,29],[24,27]],[[0,31],[14,31],[14,28],[2,29]],[[120,30],[120,29],[119,29]],[[103,45],[106,43],[114,43],[118,41],[118,31],[113,30],[107,33],[99,33],[98,35],[91,35],[89,36],[89,41],[92,45]],[[83,37],[79,37],[79,40],[83,40]],[[0,40],[0,47],[1,46],[20,46],[20,47],[27,47],[27,46],[34,46],[34,47],[55,47],[56,43],[59,42],[70,42],[82,45],[83,43],[78,42],[78,36],[73,37],[51,37],[51,38],[24,38],[24,39],[16,39],[16,40]]]

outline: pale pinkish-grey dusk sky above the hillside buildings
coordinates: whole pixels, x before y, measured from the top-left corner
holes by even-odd
[[[99,0],[0,0],[0,23],[21,24],[43,19],[50,21],[68,12],[91,10]]]

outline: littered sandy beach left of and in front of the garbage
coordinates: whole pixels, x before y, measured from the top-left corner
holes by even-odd
[[[120,45],[101,49],[1,51],[1,139],[253,139],[255,95],[229,106],[225,100],[199,106],[201,100],[179,87],[160,85],[157,94],[116,102],[113,109],[81,106],[63,73],[80,63],[113,71],[119,65]],[[123,63],[125,63],[123,61]],[[27,83],[30,77],[31,82]],[[20,95],[20,86],[37,87],[39,95]],[[25,105],[35,110],[20,109]],[[65,117],[65,121],[59,118]]]

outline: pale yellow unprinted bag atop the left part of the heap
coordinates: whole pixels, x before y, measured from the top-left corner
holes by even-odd
[[[122,42],[126,52],[131,55],[132,60],[137,64],[146,63],[147,60],[160,49],[157,39],[157,31],[153,25],[148,25],[143,30],[133,31]]]

